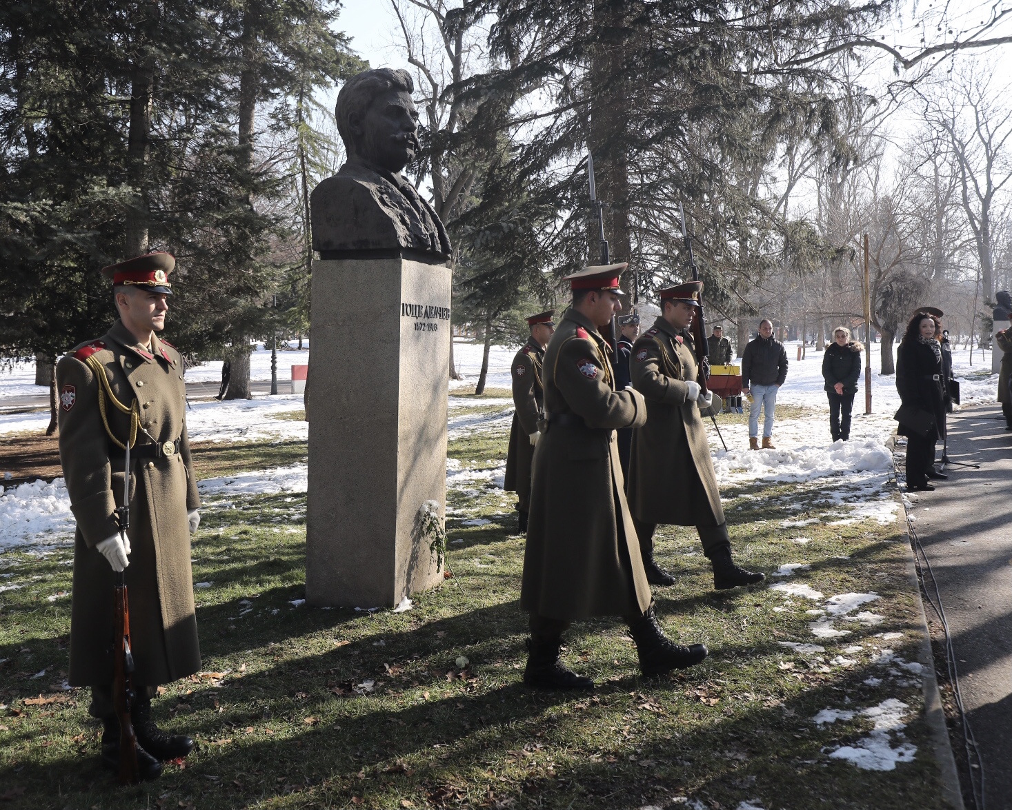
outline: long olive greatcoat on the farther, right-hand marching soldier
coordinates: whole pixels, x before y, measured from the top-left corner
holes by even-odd
[[[698,404],[687,398],[697,382],[692,338],[663,318],[632,347],[632,387],[647,399],[647,424],[632,438],[629,509],[644,523],[676,526],[725,522],[716,474]]]

